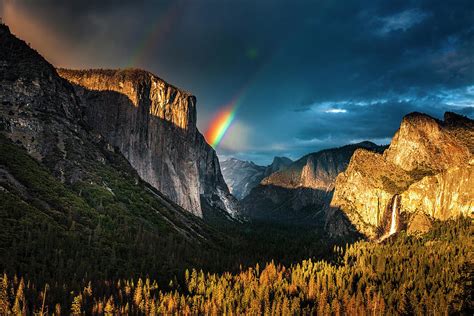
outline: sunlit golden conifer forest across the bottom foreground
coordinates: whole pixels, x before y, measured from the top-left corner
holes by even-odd
[[[385,244],[335,247],[338,259],[271,262],[239,273],[185,272],[160,288],[145,279],[84,280],[35,286],[2,278],[0,313],[58,314],[472,314],[472,225],[437,223],[422,238],[401,233]]]

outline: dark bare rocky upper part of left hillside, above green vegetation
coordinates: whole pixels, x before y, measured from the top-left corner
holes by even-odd
[[[133,181],[137,192],[143,196],[153,196],[162,206],[162,209],[154,210],[153,213],[160,220],[169,223],[165,226],[170,225],[180,232],[199,226],[193,223],[196,219],[194,216],[166,199],[160,192],[142,185],[143,182],[120,152],[86,126],[81,103],[73,86],[62,79],[41,55],[12,35],[3,24],[0,24],[0,65],[2,137],[24,147],[30,156],[40,161],[68,187],[86,183],[109,190],[107,179],[98,177],[98,169],[105,166],[114,176],[120,175],[127,181]],[[5,166],[1,166],[0,169],[4,168]],[[21,180],[25,180],[16,180],[11,176],[6,179],[17,186],[20,186]],[[27,201],[28,189],[25,188],[26,193],[23,194]],[[54,206],[47,204],[41,207],[54,209]],[[169,215],[170,213],[173,215]]]

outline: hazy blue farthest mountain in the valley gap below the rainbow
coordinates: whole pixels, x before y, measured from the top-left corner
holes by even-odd
[[[285,169],[292,163],[286,157],[275,157],[273,162],[264,167],[251,161],[230,158],[221,163],[222,175],[230,192],[239,200],[246,197],[266,176]]]

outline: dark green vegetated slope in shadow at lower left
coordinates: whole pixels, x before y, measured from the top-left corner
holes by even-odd
[[[172,278],[223,264],[224,240],[114,164],[70,186],[0,136],[0,269],[31,281]],[[199,237],[202,236],[202,237]],[[196,248],[199,248],[199,252]],[[222,251],[225,252],[225,251]]]

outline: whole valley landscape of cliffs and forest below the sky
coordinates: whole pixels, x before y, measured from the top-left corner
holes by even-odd
[[[0,25],[0,314],[470,314],[474,121],[219,161],[197,99]]]

